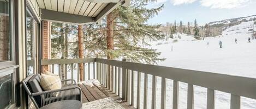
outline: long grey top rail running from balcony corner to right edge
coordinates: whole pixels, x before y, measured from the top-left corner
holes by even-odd
[[[96,61],[112,66],[123,66],[126,69],[136,70],[146,74],[160,76],[166,79],[186,82],[188,84],[256,99],[256,79],[254,78],[157,65],[147,65],[135,62],[124,62],[106,59],[96,59]]]

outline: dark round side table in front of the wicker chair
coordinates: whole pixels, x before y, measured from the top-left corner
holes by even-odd
[[[41,107],[40,109],[81,109],[82,108],[82,102],[78,100],[62,100],[53,102],[49,105],[45,105],[44,107]]]

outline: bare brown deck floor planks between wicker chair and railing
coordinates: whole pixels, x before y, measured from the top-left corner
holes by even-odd
[[[83,83],[78,84],[78,86],[82,90],[82,103],[112,97],[114,98],[114,100],[118,101],[118,103],[120,103],[124,108],[134,108],[132,105],[129,105],[128,102],[123,101],[115,93],[112,93],[108,88],[104,86],[97,86],[93,83],[90,85]]]

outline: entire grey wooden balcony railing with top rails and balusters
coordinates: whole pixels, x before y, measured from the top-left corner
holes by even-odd
[[[52,65],[53,72],[55,70],[54,65],[71,65],[71,78],[74,78],[74,64],[76,63],[84,63],[87,65],[87,71],[84,70],[84,76],[86,76],[85,72],[88,74],[87,79],[99,80],[102,85],[108,87],[112,92],[119,95],[122,99],[128,101],[130,105],[133,105],[134,102],[136,102],[136,104],[140,104],[140,83],[141,77],[144,76],[144,108],[147,108],[146,104],[148,104],[148,76],[152,76],[151,108],[156,107],[156,77],[162,78],[160,108],[165,108],[166,79],[171,79],[174,81],[172,97],[172,108],[174,109],[178,108],[178,82],[185,82],[188,84],[188,109],[192,109],[194,105],[195,85],[207,88],[207,109],[215,108],[215,91],[222,91],[231,94],[230,108],[232,109],[240,109],[241,97],[256,99],[256,79],[253,78],[156,65],[146,65],[142,63],[127,62],[125,59],[123,61],[106,59],[54,59],[41,61],[41,65]],[[58,72],[59,75],[61,75],[60,67]],[[79,70],[77,70],[77,72],[79,72]],[[138,86],[136,88],[136,101],[134,101],[135,72],[137,72],[136,74],[138,82],[136,83]],[[77,77],[79,77],[79,73],[76,74]],[[79,81],[78,78],[77,80]],[[139,107],[140,105],[136,105],[135,108]]]

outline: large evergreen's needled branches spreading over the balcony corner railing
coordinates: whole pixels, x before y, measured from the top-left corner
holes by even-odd
[[[134,62],[156,63],[164,59],[158,58],[159,52],[146,46],[149,41],[157,41],[164,38],[161,31],[157,28],[160,25],[148,25],[146,22],[149,18],[157,15],[163,8],[163,5],[148,9],[146,5],[148,0],[132,1],[129,7],[118,7],[112,11],[109,16],[111,20],[103,20],[101,25],[91,24],[85,28],[86,39],[90,39],[89,45],[94,49],[90,51],[98,57],[111,56],[112,59],[127,58]],[[109,22],[113,21],[113,22]],[[111,24],[112,32],[108,31],[107,25]],[[108,25],[109,26],[109,25]],[[94,31],[94,32],[91,32]],[[106,49],[106,36],[112,34],[113,49]]]

